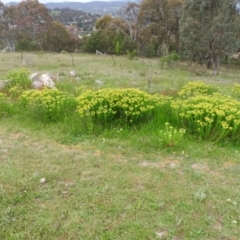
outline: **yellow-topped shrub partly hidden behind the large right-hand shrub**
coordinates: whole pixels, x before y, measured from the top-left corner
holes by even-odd
[[[179,91],[178,96],[186,99],[197,95],[212,95],[217,92],[216,86],[203,82],[189,82]]]

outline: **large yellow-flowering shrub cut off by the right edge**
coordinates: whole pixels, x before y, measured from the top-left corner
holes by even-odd
[[[237,141],[240,134],[240,102],[215,93],[172,103],[179,123],[202,139]]]

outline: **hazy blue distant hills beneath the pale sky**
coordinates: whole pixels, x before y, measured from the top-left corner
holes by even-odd
[[[120,8],[125,6],[127,1],[110,1],[110,2],[103,2],[103,1],[94,1],[94,2],[50,2],[45,3],[45,6],[48,9],[61,9],[61,8],[70,8],[75,10],[82,10],[84,12],[90,13],[116,13]]]

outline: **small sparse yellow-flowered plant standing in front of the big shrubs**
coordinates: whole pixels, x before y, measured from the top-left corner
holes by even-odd
[[[186,130],[184,128],[174,128],[168,122],[165,123],[165,129],[160,130],[160,142],[161,145],[167,147],[178,146],[185,134]]]

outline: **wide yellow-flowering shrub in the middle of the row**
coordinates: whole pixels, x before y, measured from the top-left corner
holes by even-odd
[[[78,98],[77,111],[91,123],[111,126],[111,123],[138,124],[153,117],[159,104],[157,97],[136,89],[101,89],[86,91]]]

